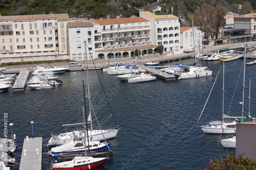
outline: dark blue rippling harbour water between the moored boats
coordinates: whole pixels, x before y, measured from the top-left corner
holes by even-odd
[[[176,61],[193,63],[194,59]],[[252,60],[247,60],[247,62]],[[241,115],[242,76],[239,74],[243,59],[225,64],[225,113],[232,96],[234,99],[229,115]],[[172,63],[162,63],[168,65]],[[225,157],[232,149],[223,149],[217,141],[220,135],[203,134],[195,128],[199,115],[206,102],[218,70],[219,61],[201,62],[213,71],[211,77],[189,80],[176,80],[129,84],[120,82],[98,70],[106,95],[121,130],[111,139],[114,162],[97,169],[202,169],[210,158]],[[102,92],[96,70],[89,71],[92,103],[100,121],[111,115]],[[243,75],[243,71],[241,73]],[[248,113],[249,78],[251,86],[251,115],[256,116],[255,65],[246,66],[245,114]],[[65,72],[58,75],[62,85],[54,89],[0,93],[1,114],[9,115],[19,148],[13,157],[19,162],[22,145],[26,136],[32,137],[30,121],[34,120],[34,136],[42,137],[46,143],[51,133],[65,132],[63,124],[82,122],[83,90],[82,80],[86,71]],[[234,88],[238,81],[236,93]],[[200,125],[209,120],[220,120],[222,114],[222,70],[210,95]],[[3,123],[0,121],[3,133]],[[0,118],[1,120],[1,118]],[[103,125],[114,126],[111,118]],[[73,130],[76,127],[69,127]],[[10,129],[10,127],[9,127]],[[49,148],[44,147],[43,152]],[[42,169],[50,169],[51,157],[44,154]],[[167,164],[167,167],[166,167]],[[172,168],[168,168],[168,164]],[[16,164],[12,169],[18,169]]]

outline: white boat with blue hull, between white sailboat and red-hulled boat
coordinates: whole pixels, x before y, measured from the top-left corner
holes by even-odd
[[[89,144],[87,143],[86,147],[84,147],[84,140],[79,141],[70,141],[66,144],[62,144],[58,147],[53,147],[49,152],[48,155],[51,156],[58,156],[58,155],[65,155],[65,154],[76,154],[79,152],[84,152],[85,148],[87,151],[90,152],[99,152],[108,150],[110,147],[110,142],[100,142],[100,141],[90,141]]]

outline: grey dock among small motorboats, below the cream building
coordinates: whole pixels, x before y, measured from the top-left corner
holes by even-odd
[[[29,77],[29,70],[21,70],[19,72],[18,78],[16,79],[12,90],[13,91],[23,91],[25,90],[25,86],[26,86],[26,82],[28,80]]]

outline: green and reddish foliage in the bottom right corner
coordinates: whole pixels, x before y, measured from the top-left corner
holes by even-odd
[[[243,158],[243,155],[239,155],[238,158],[233,153],[227,156],[225,160],[222,159],[210,159],[210,164],[207,165],[205,170],[253,170],[256,169],[256,162],[248,157]]]

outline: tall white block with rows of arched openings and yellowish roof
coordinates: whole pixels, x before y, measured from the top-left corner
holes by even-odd
[[[140,12],[140,17],[150,20],[152,43],[163,45],[164,52],[180,53],[180,22],[175,15],[155,15]]]

